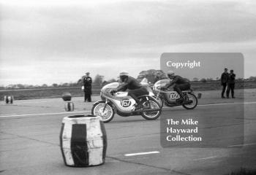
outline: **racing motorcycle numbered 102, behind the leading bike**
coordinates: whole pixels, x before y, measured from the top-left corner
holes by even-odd
[[[165,85],[170,83],[170,79],[161,79],[157,81],[153,86],[153,91],[157,102],[162,107],[165,104],[168,107],[183,106],[185,109],[195,109],[198,100],[197,96],[192,89],[183,90],[185,100],[183,102],[178,101],[180,96],[176,91],[167,90]]]

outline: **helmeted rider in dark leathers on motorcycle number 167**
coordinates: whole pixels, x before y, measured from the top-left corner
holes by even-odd
[[[137,79],[129,77],[127,71],[122,71],[119,74],[121,85],[116,90],[111,90],[110,93],[116,93],[118,91],[129,90],[128,96],[131,96],[136,101],[135,110],[143,108],[143,104],[140,103],[138,96],[148,95],[148,90],[144,88]]]

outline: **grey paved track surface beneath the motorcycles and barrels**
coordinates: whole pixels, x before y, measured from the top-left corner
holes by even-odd
[[[75,112],[64,112],[64,102],[59,98],[15,101],[11,105],[1,102],[0,174],[205,175],[227,174],[241,167],[256,168],[256,92],[245,90],[242,96],[242,91],[237,90],[236,94],[236,99],[223,100],[217,91],[204,91],[194,110],[176,107],[162,111],[162,117],[196,117],[204,123],[200,131],[217,133],[219,144],[225,147],[162,148],[160,119],[147,121],[140,116],[116,115],[105,124],[106,162],[91,168],[64,166],[59,132],[63,117],[87,114],[92,103],[73,98]],[[97,99],[94,96],[94,101]],[[236,128],[243,128],[244,134]],[[244,143],[237,144],[243,135]],[[141,152],[151,154],[127,156]]]

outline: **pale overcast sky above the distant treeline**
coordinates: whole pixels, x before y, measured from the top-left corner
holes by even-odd
[[[137,77],[162,52],[242,52],[256,76],[253,0],[0,2],[0,85]]]

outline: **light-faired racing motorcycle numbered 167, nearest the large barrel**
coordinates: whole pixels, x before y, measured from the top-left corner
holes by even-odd
[[[112,82],[102,88],[100,93],[102,100],[94,103],[91,114],[102,117],[104,123],[110,122],[115,114],[121,117],[141,115],[146,120],[156,120],[160,116],[162,109],[149,87],[146,87],[149,95],[138,97],[141,104],[143,104],[143,108],[135,110],[136,102],[128,96],[128,92],[110,93],[118,85],[118,82]]]

